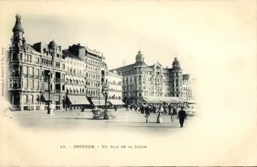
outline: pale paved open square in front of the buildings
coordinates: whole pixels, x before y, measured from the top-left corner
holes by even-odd
[[[122,129],[122,130],[136,130],[136,131],[151,131],[162,132],[172,131],[174,128],[179,128],[178,120],[171,123],[170,116],[162,116],[163,123],[155,123],[157,115],[151,113],[149,123],[145,123],[143,114],[136,113],[134,110],[125,111],[124,108],[114,112],[116,118],[112,120],[93,120],[90,110],[86,110],[85,115],[79,115],[79,110],[64,111],[54,110],[54,117],[49,117],[45,110],[12,112],[13,120],[16,121],[21,127],[39,129]],[[187,122],[191,121],[188,117]],[[187,126],[186,123],[185,126]]]

